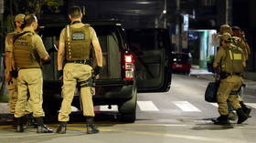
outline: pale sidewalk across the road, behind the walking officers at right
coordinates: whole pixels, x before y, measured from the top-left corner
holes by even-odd
[[[192,77],[204,78],[207,80],[214,81],[214,74],[211,72],[208,72],[205,69],[195,69],[195,68],[192,69],[191,68],[189,75]],[[246,85],[246,90],[256,94],[256,81],[250,80],[248,78],[243,80],[244,84]]]

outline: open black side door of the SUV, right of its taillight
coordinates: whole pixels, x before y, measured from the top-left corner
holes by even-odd
[[[140,92],[168,91],[172,80],[170,36],[167,29],[126,29],[135,58],[136,84]]]

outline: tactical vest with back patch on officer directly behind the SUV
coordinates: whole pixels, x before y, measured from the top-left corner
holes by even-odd
[[[66,26],[65,56],[67,61],[89,60],[91,35],[89,26],[74,28]]]

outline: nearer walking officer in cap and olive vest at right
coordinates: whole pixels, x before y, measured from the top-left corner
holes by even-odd
[[[237,111],[239,117],[238,124],[241,124],[248,118],[240,107],[238,96],[230,95],[232,91],[240,89],[242,84],[241,74],[245,66],[242,50],[238,46],[231,45],[231,43],[231,36],[228,33],[224,33],[221,36],[221,46],[213,63],[213,67],[220,71],[219,75],[221,78],[217,93],[220,117],[215,121],[215,124],[218,125],[229,124],[227,100]]]

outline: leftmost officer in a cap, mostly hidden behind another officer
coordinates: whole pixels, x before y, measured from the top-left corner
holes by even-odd
[[[7,90],[10,96],[9,108],[10,113],[15,113],[16,100],[17,100],[17,80],[16,80],[16,69],[13,61],[13,36],[22,31],[22,26],[24,24],[25,15],[18,14],[15,16],[15,26],[14,32],[8,33],[5,38],[5,78],[7,80]],[[13,73],[13,74],[12,74]],[[27,117],[29,119],[29,125],[35,125],[34,119],[32,117],[32,108],[30,101],[27,102]],[[16,123],[15,123],[16,124]],[[15,126],[14,124],[14,126]]]

